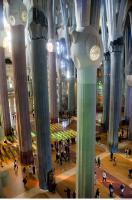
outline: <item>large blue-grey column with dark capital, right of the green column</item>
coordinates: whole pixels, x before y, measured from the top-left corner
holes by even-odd
[[[120,109],[120,90],[121,90],[121,51],[122,38],[111,42],[111,80],[110,80],[110,115],[109,115],[109,150],[117,152],[118,150],[118,129],[121,114]]]

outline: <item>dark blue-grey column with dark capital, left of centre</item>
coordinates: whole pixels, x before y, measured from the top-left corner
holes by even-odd
[[[47,18],[43,10],[29,11],[29,31],[32,51],[34,110],[37,131],[39,185],[48,189],[48,172],[52,169],[47,78]]]

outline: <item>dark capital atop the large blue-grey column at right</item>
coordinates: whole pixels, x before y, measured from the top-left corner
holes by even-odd
[[[110,42],[110,52],[121,52],[123,46],[123,37]]]

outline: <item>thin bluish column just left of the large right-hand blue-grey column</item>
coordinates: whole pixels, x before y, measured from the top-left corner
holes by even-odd
[[[110,104],[110,53],[104,54],[104,104],[103,123],[106,130],[109,128],[109,104]]]

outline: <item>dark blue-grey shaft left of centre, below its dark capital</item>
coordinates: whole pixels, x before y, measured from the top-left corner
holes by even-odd
[[[52,169],[49,129],[46,40],[32,39],[34,108],[39,161],[39,185],[47,189],[48,172]]]

